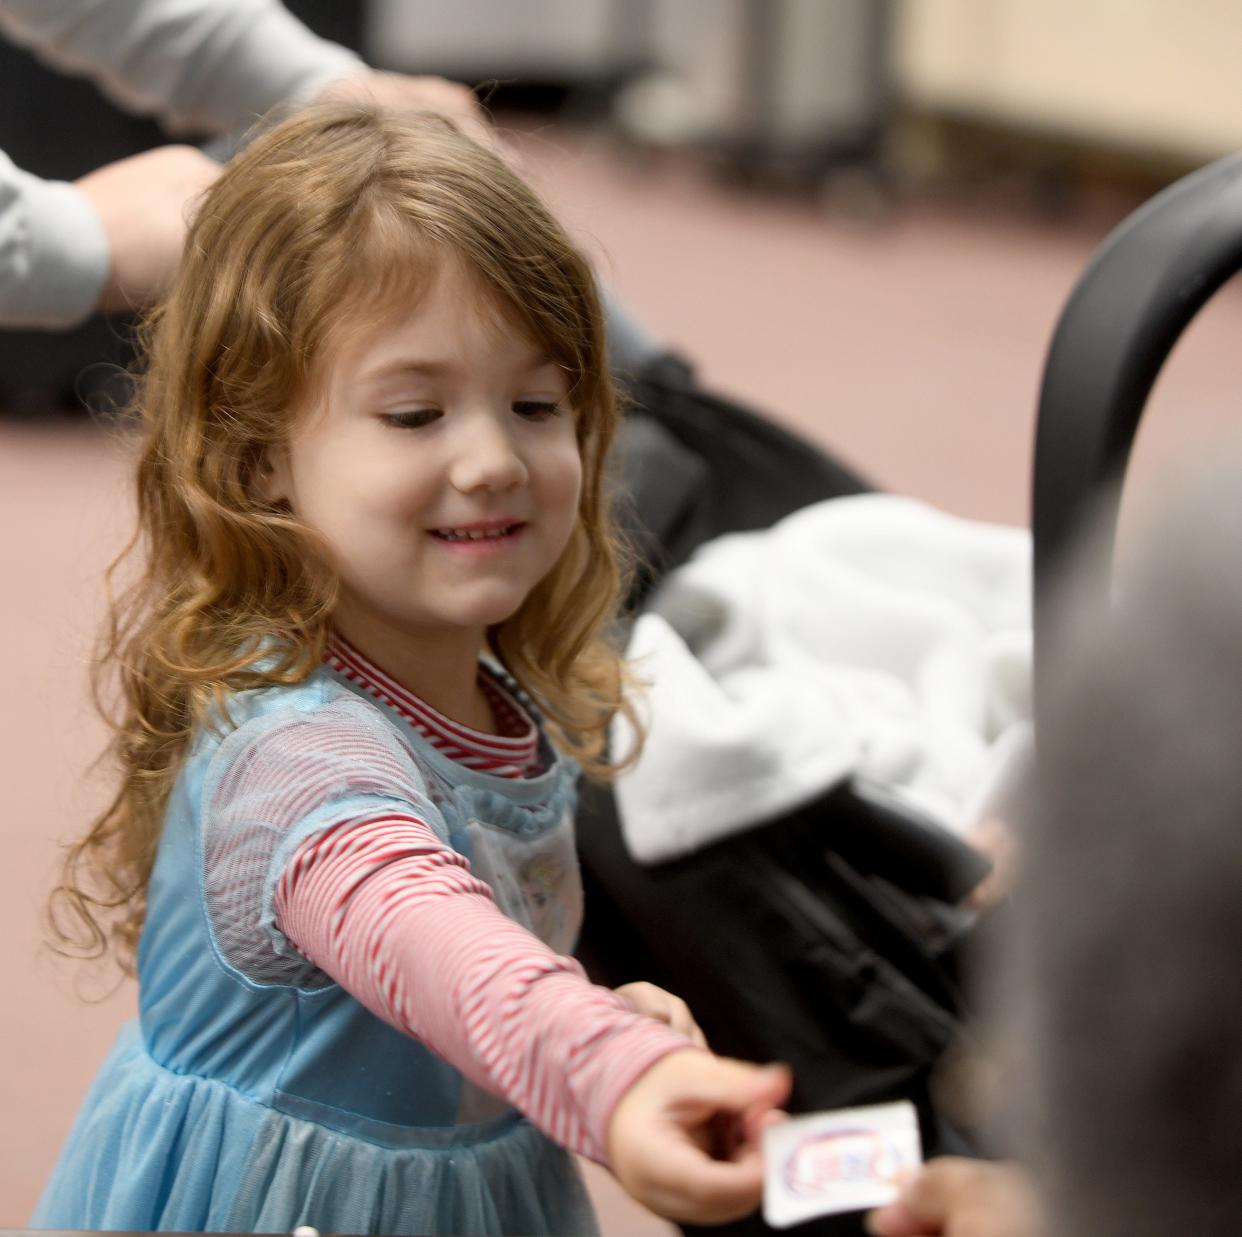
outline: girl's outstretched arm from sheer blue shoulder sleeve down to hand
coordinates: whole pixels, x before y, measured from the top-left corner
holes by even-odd
[[[787,1081],[696,1047],[635,1008],[653,991],[627,1000],[591,984],[505,915],[428,823],[421,775],[368,705],[243,724],[204,796],[207,904],[235,965],[273,948],[287,964],[292,945],[556,1143],[617,1156],[652,1207],[709,1220],[759,1201],[758,1126]],[[258,917],[255,898],[271,899]],[[283,941],[256,935],[256,920]],[[656,1012],[677,1021],[667,1002]]]

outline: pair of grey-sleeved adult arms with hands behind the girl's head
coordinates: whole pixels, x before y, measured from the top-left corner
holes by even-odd
[[[440,112],[489,137],[465,86],[369,70],[276,0],[0,0],[0,34],[171,129],[237,130],[277,103],[334,97]],[[0,327],[72,327],[156,297],[217,170],[166,147],[70,185],[0,153]]]

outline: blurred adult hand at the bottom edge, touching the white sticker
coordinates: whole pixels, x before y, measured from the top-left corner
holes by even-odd
[[[930,1160],[900,1198],[867,1217],[874,1237],[1040,1237],[1035,1190],[1020,1167]]]

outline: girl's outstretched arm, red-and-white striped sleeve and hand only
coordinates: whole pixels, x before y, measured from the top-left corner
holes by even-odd
[[[350,821],[309,838],[277,914],[374,1013],[609,1165],[652,1211],[713,1223],[759,1205],[759,1136],[789,1072],[715,1057],[591,984],[504,915],[421,821]]]

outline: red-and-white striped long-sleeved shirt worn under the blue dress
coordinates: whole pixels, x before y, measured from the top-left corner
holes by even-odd
[[[502,735],[431,709],[343,640],[327,659],[467,768],[538,771],[534,723],[487,674]],[[315,787],[302,792],[313,799]],[[281,877],[276,917],[373,1013],[601,1162],[620,1098],[689,1046],[504,915],[466,859],[414,815],[344,820],[309,837]]]

